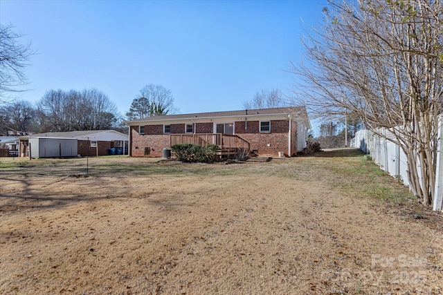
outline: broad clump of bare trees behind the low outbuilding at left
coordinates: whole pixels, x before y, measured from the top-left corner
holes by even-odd
[[[120,117],[109,97],[95,88],[47,91],[38,112],[43,131],[112,129]]]

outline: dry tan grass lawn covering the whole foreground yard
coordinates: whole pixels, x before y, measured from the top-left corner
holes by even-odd
[[[442,294],[443,218],[353,149],[0,160],[1,294]]]

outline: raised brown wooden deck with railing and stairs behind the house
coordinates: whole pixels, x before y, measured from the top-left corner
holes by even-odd
[[[217,155],[220,158],[242,158],[250,151],[249,142],[237,135],[224,133],[171,134],[170,145],[174,144],[198,144],[201,146],[215,144],[218,146]]]

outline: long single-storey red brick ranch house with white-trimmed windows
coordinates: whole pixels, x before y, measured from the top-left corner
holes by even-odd
[[[125,124],[129,126],[129,155],[133,157],[161,157],[164,148],[170,149],[172,144],[183,142],[183,138],[204,135],[223,135],[223,140],[212,142],[217,144],[239,137],[257,155],[293,156],[305,149],[311,128],[306,108],[301,106],[157,115]]]

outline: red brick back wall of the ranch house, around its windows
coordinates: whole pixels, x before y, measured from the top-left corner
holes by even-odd
[[[153,130],[160,134],[147,134],[148,131]],[[282,151],[285,155],[288,153],[289,144],[289,121],[288,120],[271,120],[271,133],[260,133],[259,121],[248,121],[245,129],[245,122],[235,122],[235,135],[242,137],[251,144],[251,151],[257,150],[258,155],[278,156],[278,152]],[[296,122],[291,123],[291,150],[292,155],[296,153]],[[185,133],[185,124],[170,124],[171,134]],[[197,123],[196,133],[213,133],[213,123]],[[163,135],[163,125],[145,126],[145,135],[138,133],[138,126],[131,128],[131,155],[133,157],[144,157],[145,147],[150,147],[150,157],[162,157],[163,148],[170,148],[170,136]],[[269,144],[269,146],[268,146]],[[292,156],[290,155],[290,156]]]

